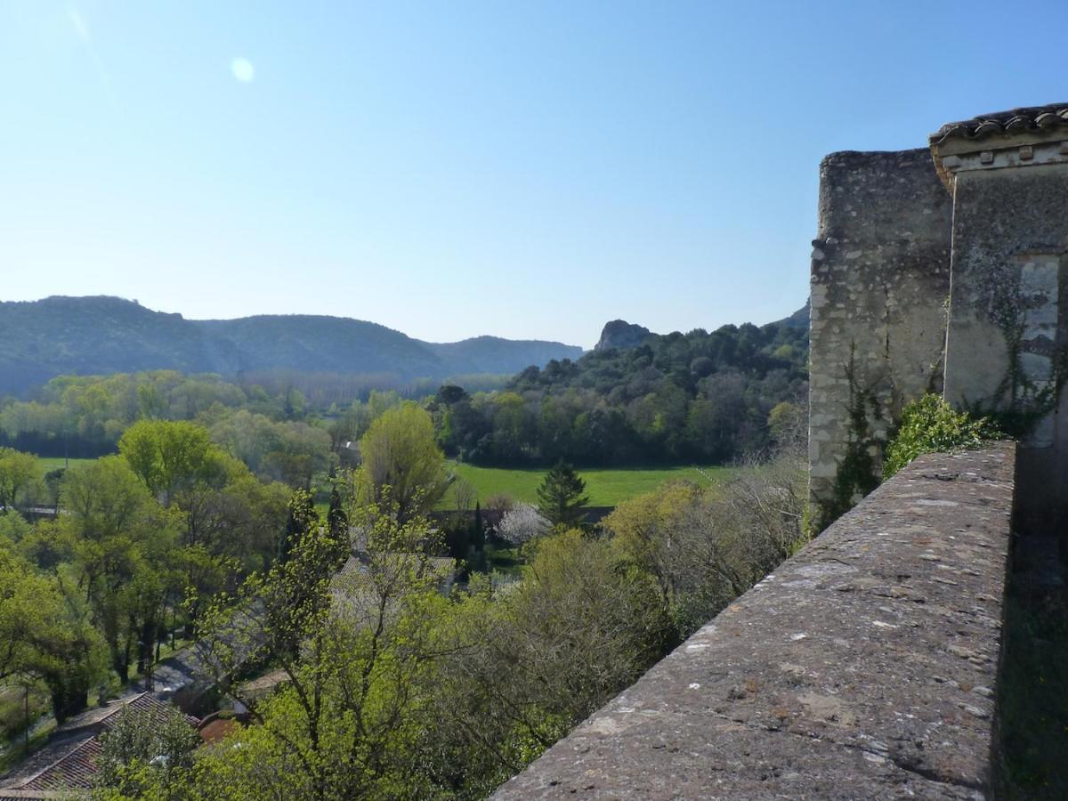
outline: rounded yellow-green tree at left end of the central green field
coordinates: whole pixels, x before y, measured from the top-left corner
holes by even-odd
[[[414,403],[375,420],[360,440],[360,454],[366,500],[394,506],[400,522],[429,512],[447,489],[430,415]]]

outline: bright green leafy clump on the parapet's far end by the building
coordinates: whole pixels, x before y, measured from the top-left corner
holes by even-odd
[[[889,478],[924,453],[965,451],[1002,436],[987,418],[954,411],[941,395],[927,394],[906,405],[897,436],[886,446],[882,475]]]

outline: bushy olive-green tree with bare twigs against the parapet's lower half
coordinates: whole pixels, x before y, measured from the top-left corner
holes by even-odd
[[[506,593],[475,577],[450,612],[421,747],[459,798],[522,770],[633,682],[669,635],[648,578],[574,530],[539,540]]]

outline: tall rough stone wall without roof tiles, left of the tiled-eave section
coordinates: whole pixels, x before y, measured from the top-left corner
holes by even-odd
[[[818,522],[874,486],[842,475],[850,446],[877,475],[878,443],[902,403],[941,390],[952,213],[927,148],[834,153],[820,164],[808,438]],[[858,405],[866,431],[850,417]]]

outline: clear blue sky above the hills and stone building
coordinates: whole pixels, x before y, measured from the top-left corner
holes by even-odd
[[[0,0],[0,299],[766,323],[824,154],[1068,100],[1066,31],[1065,0]]]

